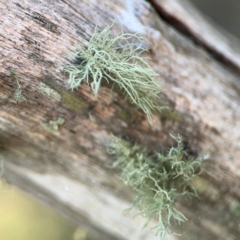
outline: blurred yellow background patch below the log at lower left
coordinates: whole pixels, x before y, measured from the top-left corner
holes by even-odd
[[[6,184],[0,187],[0,212],[1,240],[71,240],[77,228],[50,207]]]

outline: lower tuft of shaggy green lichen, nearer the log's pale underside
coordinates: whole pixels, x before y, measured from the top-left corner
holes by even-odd
[[[144,227],[152,217],[156,217],[156,235],[166,237],[171,220],[179,224],[186,217],[176,209],[175,202],[181,196],[196,196],[191,185],[194,177],[201,173],[203,158],[189,159],[180,137],[176,137],[177,147],[167,154],[150,154],[139,145],[114,137],[108,152],[116,155],[113,167],[120,168],[121,179],[135,192],[133,206],[140,209],[147,218]]]

